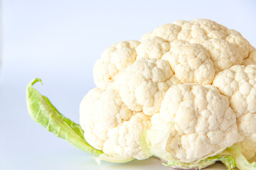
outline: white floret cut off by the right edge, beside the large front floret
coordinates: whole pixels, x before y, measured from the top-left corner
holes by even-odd
[[[256,65],[235,65],[215,76],[213,86],[230,98],[230,105],[237,117],[256,113]],[[256,120],[255,120],[256,121]],[[256,122],[255,122],[256,123]],[[254,133],[252,131],[250,133]]]

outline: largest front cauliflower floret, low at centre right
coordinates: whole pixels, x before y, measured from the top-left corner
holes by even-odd
[[[152,130],[171,127],[166,152],[181,162],[196,161],[240,139],[228,98],[211,85],[171,86],[151,119]]]

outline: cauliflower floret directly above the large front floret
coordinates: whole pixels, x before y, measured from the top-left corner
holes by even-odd
[[[213,62],[208,51],[199,44],[174,40],[171,42],[171,50],[162,59],[170,63],[182,83],[210,84],[214,79]]]

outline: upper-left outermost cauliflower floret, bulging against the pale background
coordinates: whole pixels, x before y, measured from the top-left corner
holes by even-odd
[[[93,77],[97,87],[107,89],[112,79],[119,72],[134,63],[137,57],[136,40],[121,41],[108,47],[93,68]]]

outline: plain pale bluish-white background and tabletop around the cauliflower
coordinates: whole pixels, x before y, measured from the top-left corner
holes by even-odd
[[[78,122],[92,66],[120,40],[176,20],[210,18],[234,28],[256,46],[256,1],[2,1],[0,69],[0,169],[169,169],[157,159],[100,166],[31,120],[26,84],[35,87],[68,118]],[[221,169],[217,168],[216,169]]]

